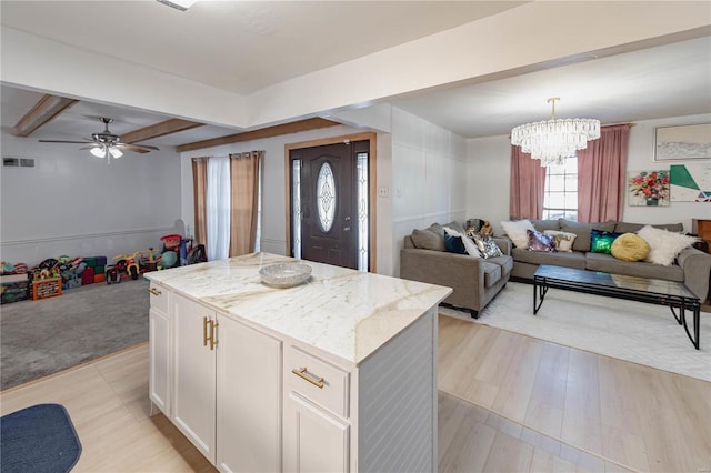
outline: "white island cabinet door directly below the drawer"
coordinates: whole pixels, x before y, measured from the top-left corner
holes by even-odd
[[[284,399],[284,471],[350,471],[350,427],[291,391]]]

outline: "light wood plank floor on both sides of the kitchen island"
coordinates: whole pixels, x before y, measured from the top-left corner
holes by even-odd
[[[440,471],[705,472],[711,383],[440,318]],[[148,349],[0,393],[0,413],[69,411],[76,472],[213,472],[149,416]]]

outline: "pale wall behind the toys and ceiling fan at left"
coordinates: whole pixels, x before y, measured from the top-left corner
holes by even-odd
[[[2,129],[2,158],[34,168],[0,168],[0,259],[34,265],[47,258],[160,248],[180,218],[180,157],[127,152],[99,160],[79,145],[39,143]]]

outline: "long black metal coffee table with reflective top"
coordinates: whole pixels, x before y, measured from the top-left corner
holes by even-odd
[[[549,288],[668,305],[677,322],[683,324],[691,343],[699,350],[701,301],[681,282],[542,264],[533,274],[533,315],[541,309]],[[687,311],[693,313],[693,335],[687,326]]]

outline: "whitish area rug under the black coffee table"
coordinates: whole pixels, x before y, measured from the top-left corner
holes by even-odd
[[[550,289],[538,315],[532,306],[533,285],[509,282],[478,320],[448,308],[440,313],[711,381],[709,313],[701,312],[701,350],[695,350],[663,305]],[[688,323],[691,331],[689,318]]]

